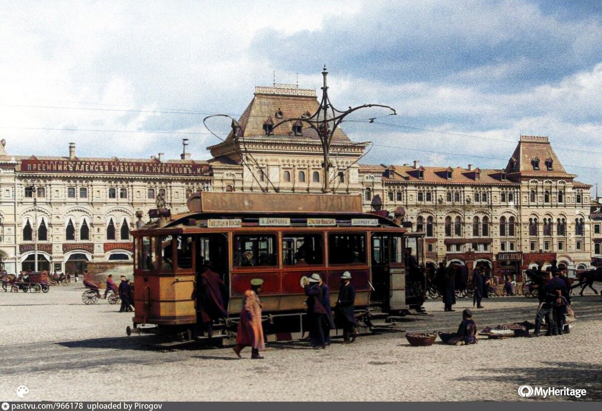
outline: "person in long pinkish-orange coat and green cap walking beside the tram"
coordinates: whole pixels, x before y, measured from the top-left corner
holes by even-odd
[[[250,345],[251,358],[262,359],[259,350],[265,349],[263,328],[261,326],[261,303],[259,302],[259,293],[263,280],[253,278],[251,280],[251,289],[244,292],[243,309],[240,311],[240,321],[238,321],[238,331],[236,334],[236,345],[232,350],[239,358],[240,351]]]

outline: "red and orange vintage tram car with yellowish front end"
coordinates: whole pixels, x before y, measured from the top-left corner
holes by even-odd
[[[195,285],[206,260],[225,282],[229,330],[252,278],[264,280],[267,333],[305,329],[302,282],[314,272],[329,285],[331,306],[341,275],[352,274],[359,319],[421,310],[424,235],[362,213],[359,196],[200,192],[187,204],[181,215],[151,210],[156,218],[132,231],[134,328],[196,335]]]

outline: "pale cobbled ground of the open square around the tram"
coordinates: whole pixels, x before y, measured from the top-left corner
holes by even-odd
[[[582,400],[602,400],[602,305],[591,290],[574,298],[579,319],[559,337],[410,347],[404,333],[383,333],[350,345],[335,339],[326,350],[268,344],[264,360],[250,360],[248,348],[242,360],[229,348],[151,350],[147,337],[125,336],[131,314],[104,300],[85,306],[82,292],[0,291],[1,401],[19,401],[19,385],[29,388],[28,401],[533,401],[518,396],[524,384],[585,388]],[[475,310],[479,328],[512,315],[533,321],[537,305],[524,297],[484,304]],[[459,300],[457,312],[444,313],[441,301],[427,301],[429,315],[406,318],[401,328],[452,330],[471,305]]]

